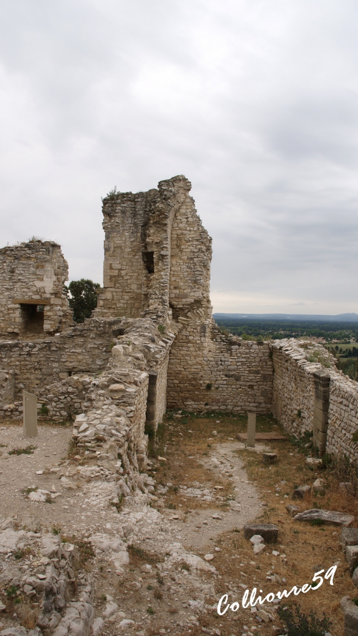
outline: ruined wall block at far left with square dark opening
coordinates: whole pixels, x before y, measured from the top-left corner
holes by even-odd
[[[53,334],[72,322],[60,245],[33,240],[0,249],[0,336]]]

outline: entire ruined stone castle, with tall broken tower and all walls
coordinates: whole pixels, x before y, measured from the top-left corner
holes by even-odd
[[[104,198],[104,286],[83,324],[70,324],[59,245],[1,249],[0,413],[22,417],[22,390],[36,394],[55,421],[72,418],[78,450],[101,446],[93,476],[117,480],[126,495],[141,483],[148,435],[167,407],[271,411],[292,434],[313,431],[321,454],[358,459],[358,383],[324,347],[218,329],[211,239],[189,192],[176,176]]]

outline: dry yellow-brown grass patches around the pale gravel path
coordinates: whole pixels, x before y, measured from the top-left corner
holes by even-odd
[[[220,420],[220,424],[217,424],[216,420]],[[167,462],[165,464],[161,462],[161,465],[156,467],[157,483],[164,485],[170,481],[173,486],[179,484],[189,486],[198,481],[208,485],[208,487],[220,484],[224,485],[224,492],[228,494],[231,489],[230,481],[225,478],[222,478],[220,482],[214,481],[213,474],[199,464],[199,459],[205,457],[206,453],[211,450],[215,451],[217,443],[227,441],[227,438],[235,439],[238,432],[246,430],[246,426],[247,418],[243,416],[233,418],[217,414],[214,417],[211,415],[210,417],[187,415],[178,420],[169,417],[164,424],[159,448],[159,454],[164,455]],[[217,431],[218,435],[208,441],[214,430]],[[271,416],[257,418],[257,431],[260,430],[283,433]],[[166,451],[164,452],[165,446]],[[254,557],[252,546],[250,542],[243,539],[242,531],[223,533],[219,541],[216,542],[222,551],[215,555],[215,562],[213,562],[222,577],[220,586],[217,584],[217,589],[223,590],[222,593],[225,593],[230,585],[234,587],[238,583],[245,583],[250,590],[254,587],[264,590],[265,595],[270,591],[290,590],[294,585],[311,583],[314,574],[313,566],[322,563],[322,569],[327,570],[334,562],[340,561],[334,576],[333,586],[329,584],[329,581],[324,581],[319,590],[309,591],[306,595],[300,594],[298,597],[294,597],[294,601],[301,604],[301,609],[305,614],[309,614],[313,610],[322,617],[322,613],[326,612],[332,621],[330,631],[333,636],[343,636],[343,614],[339,608],[340,599],[345,595],[354,597],[357,595],[357,590],[350,579],[347,563],[341,551],[340,527],[331,525],[318,527],[306,522],[296,522],[289,517],[285,506],[288,503],[294,503],[300,506],[301,510],[308,508],[340,510],[355,515],[353,525],[357,526],[358,501],[351,494],[340,490],[338,479],[341,475],[338,474],[339,471],[331,471],[330,469],[312,471],[306,466],[304,451],[307,452],[307,449],[297,448],[290,441],[273,441],[271,442],[271,450],[278,453],[278,462],[271,466],[264,466],[261,456],[257,453],[242,450],[238,451],[238,455],[245,464],[248,478],[254,481],[255,487],[261,494],[262,501],[266,501],[268,504],[263,508],[262,516],[256,521],[278,525],[278,544],[268,546],[266,553]],[[313,493],[304,501],[291,500],[295,487],[304,484],[312,485],[318,477],[326,480],[326,494]],[[285,483],[281,483],[282,481]],[[276,490],[276,488],[281,488],[281,490]],[[284,495],[287,496],[284,497]],[[173,488],[169,488],[166,495],[166,505],[174,504],[176,513],[182,517],[188,510],[186,508],[188,504],[181,501],[181,496]],[[182,504],[182,512],[180,512],[179,504]],[[190,499],[191,510],[205,507],[213,508],[215,506],[213,506],[213,502],[203,504],[194,498]],[[287,556],[287,565],[282,562],[280,556],[272,555],[272,550],[275,548]],[[255,565],[251,565],[250,562],[254,561]],[[240,565],[241,563],[243,565]],[[266,573],[269,570],[281,578],[284,577],[287,583],[268,581]],[[242,589],[238,587],[238,597],[241,596]],[[227,614],[234,616],[233,612],[227,612]],[[218,617],[216,612],[213,612],[208,617],[211,628],[220,628],[220,630],[224,630],[222,633],[225,634],[241,634],[240,630],[244,624],[249,627],[255,624],[247,612],[238,612],[238,621],[235,622],[227,614]],[[203,621],[201,621],[201,625],[204,625]],[[221,626],[219,627],[219,625]],[[272,633],[272,623],[268,626],[263,625],[263,623],[261,625],[260,633],[262,636],[266,633]],[[275,620],[275,625],[280,625],[278,619]],[[183,633],[186,633],[185,630]],[[190,636],[194,636],[196,633],[202,633],[201,626],[199,628],[192,627]]]

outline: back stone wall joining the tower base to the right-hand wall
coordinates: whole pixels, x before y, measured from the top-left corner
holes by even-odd
[[[201,325],[198,323],[192,335],[189,329],[193,326],[194,321],[184,326],[173,343],[168,368],[168,406],[268,413],[273,386],[268,343],[224,336],[213,321],[209,326],[203,321]],[[190,355],[193,338],[197,342]],[[202,355],[196,356],[199,346]]]

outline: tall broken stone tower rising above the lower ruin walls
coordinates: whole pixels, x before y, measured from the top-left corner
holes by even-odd
[[[198,308],[210,316],[211,239],[190,188],[179,175],[157,190],[104,198],[97,317],[150,317],[168,325]]]

